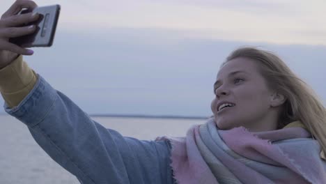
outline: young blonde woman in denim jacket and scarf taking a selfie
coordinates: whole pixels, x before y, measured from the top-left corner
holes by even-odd
[[[22,60],[9,38],[38,15],[15,1],[0,20],[0,91],[8,114],[81,183],[326,183],[325,107],[276,55],[228,56],[214,84],[214,116],[185,137],[141,141],[93,121]]]

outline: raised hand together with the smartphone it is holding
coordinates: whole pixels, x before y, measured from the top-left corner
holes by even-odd
[[[20,54],[33,54],[25,47],[51,46],[59,11],[59,5],[42,8],[31,0],[15,1],[0,18],[0,69]]]

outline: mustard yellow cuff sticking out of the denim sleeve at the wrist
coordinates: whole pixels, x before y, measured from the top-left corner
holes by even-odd
[[[22,55],[0,70],[0,92],[9,107],[15,107],[29,94],[36,84],[37,75]]]

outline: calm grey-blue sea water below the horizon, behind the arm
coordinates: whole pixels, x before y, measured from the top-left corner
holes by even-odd
[[[123,136],[142,140],[159,136],[184,137],[187,129],[202,119],[91,117]],[[28,128],[16,118],[0,116],[0,183],[74,184],[77,178],[54,162],[38,146]]]

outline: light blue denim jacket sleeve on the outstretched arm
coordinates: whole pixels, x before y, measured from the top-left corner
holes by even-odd
[[[168,141],[123,137],[104,128],[40,75],[20,105],[4,108],[80,183],[176,183]]]

